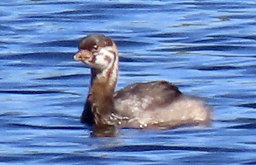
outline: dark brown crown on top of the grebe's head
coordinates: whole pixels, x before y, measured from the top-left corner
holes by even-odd
[[[106,37],[105,35],[101,34],[93,34],[88,35],[87,37],[84,37],[81,39],[78,45],[78,49],[85,49],[85,50],[93,50],[98,49],[98,47],[105,47],[105,46],[112,46],[113,41]]]

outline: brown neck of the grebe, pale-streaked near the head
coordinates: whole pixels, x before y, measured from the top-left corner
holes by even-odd
[[[111,114],[115,113],[113,92],[118,77],[118,56],[109,63],[109,67],[100,71],[92,69],[90,87],[91,110],[96,125],[114,125]]]

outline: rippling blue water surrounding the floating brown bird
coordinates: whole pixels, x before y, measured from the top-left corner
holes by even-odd
[[[1,164],[256,164],[255,1],[0,3]],[[214,107],[212,125],[122,129],[79,122],[90,70],[79,38],[113,38],[117,89],[165,79]]]

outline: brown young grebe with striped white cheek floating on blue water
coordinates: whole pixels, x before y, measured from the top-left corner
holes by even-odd
[[[172,128],[210,121],[198,98],[182,94],[167,81],[134,83],[114,91],[119,55],[115,42],[101,34],[82,38],[74,59],[91,68],[91,85],[81,122],[96,126]]]

